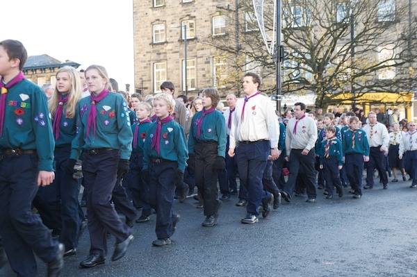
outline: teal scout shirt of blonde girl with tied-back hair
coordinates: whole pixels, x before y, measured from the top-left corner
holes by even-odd
[[[120,158],[129,160],[132,151],[133,134],[129,119],[129,108],[121,94],[109,92],[96,103],[96,133],[90,126],[86,139],[88,113],[91,108],[90,97],[81,99],[76,108],[77,133],[72,141],[71,158],[77,159],[81,150],[112,148],[120,149]]]

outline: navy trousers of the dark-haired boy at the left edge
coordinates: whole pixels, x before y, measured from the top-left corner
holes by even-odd
[[[33,253],[51,262],[58,251],[58,242],[31,212],[38,191],[38,155],[6,156],[0,168],[0,234],[4,249],[17,276],[38,276]]]

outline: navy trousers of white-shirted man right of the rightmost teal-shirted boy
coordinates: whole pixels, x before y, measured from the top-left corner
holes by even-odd
[[[382,184],[388,183],[388,176],[386,176],[384,152],[380,151],[381,147],[370,147],[369,162],[366,162],[366,185],[373,187],[374,185],[374,171],[378,169],[379,177]]]

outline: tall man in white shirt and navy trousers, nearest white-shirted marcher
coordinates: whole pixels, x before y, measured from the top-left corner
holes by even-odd
[[[229,136],[229,156],[235,156],[240,185],[247,189],[247,215],[240,222],[252,224],[258,221],[259,205],[263,204],[263,217],[268,217],[274,197],[263,190],[263,171],[268,155],[277,160],[279,126],[274,108],[268,97],[261,95],[261,78],[252,72],[243,77],[245,99],[239,99],[234,111],[235,121]]]

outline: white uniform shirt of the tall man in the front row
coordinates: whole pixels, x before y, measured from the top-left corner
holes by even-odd
[[[270,140],[271,148],[277,148],[279,125],[270,99],[261,94],[248,99],[242,120],[244,102],[245,99],[238,99],[232,114],[234,120],[231,124],[229,148],[235,149],[238,142],[258,140]]]

